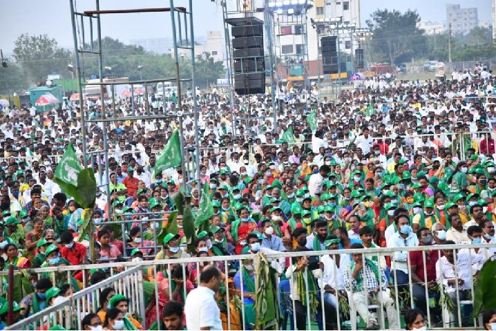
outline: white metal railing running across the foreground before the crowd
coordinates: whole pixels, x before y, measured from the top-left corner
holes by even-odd
[[[398,259],[396,256],[398,253],[408,253],[412,251],[421,251],[421,252],[432,252],[432,251],[437,251],[437,254],[434,254],[433,256],[437,255],[437,258],[441,258],[442,251],[445,249],[450,249],[450,250],[455,250],[455,283],[459,283],[460,280],[464,282],[470,282],[470,286],[467,287],[466,291],[468,291],[469,296],[468,299],[466,300],[461,300],[461,288],[456,287],[455,288],[455,302],[452,302],[453,305],[452,307],[448,307],[446,305],[446,295],[448,295],[447,289],[443,285],[439,285],[435,288],[428,289],[428,287],[424,287],[425,290],[425,300],[426,304],[423,305],[424,307],[427,307],[427,310],[425,312],[426,314],[426,321],[428,321],[428,325],[430,325],[430,328],[452,328],[455,324],[459,326],[463,326],[464,329],[467,329],[470,327],[476,327],[477,325],[481,326],[480,321],[478,319],[471,319],[468,314],[464,314],[464,308],[470,307],[473,305],[473,300],[475,297],[475,292],[474,292],[474,272],[469,273],[469,277],[462,279],[460,278],[460,269],[458,267],[458,260],[457,256],[460,254],[457,252],[458,249],[468,249],[467,252],[464,252],[464,254],[468,254],[468,259],[469,261],[476,261],[475,257],[475,252],[472,252],[472,249],[476,248],[483,248],[483,249],[495,249],[496,244],[477,244],[477,245],[466,245],[466,244],[460,244],[460,245],[439,245],[439,246],[418,246],[418,247],[399,247],[399,248],[374,248],[374,249],[339,249],[339,250],[327,250],[327,251],[309,251],[305,252],[305,256],[316,256],[318,258],[318,261],[323,261],[323,257],[326,255],[332,256],[334,261],[336,261],[336,256],[340,256],[341,259],[350,259],[351,261],[351,254],[362,254],[363,261],[365,261],[365,258],[370,258],[374,259],[376,258],[377,261],[381,261],[381,259],[385,257],[389,257],[392,261],[392,265],[398,265],[398,263],[403,265],[403,268],[406,267],[408,270],[408,283],[406,284],[398,284],[395,281],[392,281],[392,279],[397,279],[397,272],[399,270],[397,268],[394,269],[389,269],[389,267],[385,267],[384,271],[386,274],[386,279],[383,280],[383,278],[379,277],[378,283],[379,283],[379,289],[385,285],[387,287],[387,290],[385,291],[385,299],[392,299],[393,305],[394,305],[394,310],[391,310],[389,307],[389,303],[386,303],[385,300],[376,300],[374,299],[373,296],[365,296],[365,300],[368,301],[368,303],[365,303],[368,305],[369,309],[374,309],[378,310],[377,316],[379,317],[379,324],[384,328],[385,325],[385,318],[383,312],[384,309],[386,309],[388,312],[394,312],[395,316],[389,315],[388,316],[388,322],[392,323],[394,319],[397,319],[397,321],[401,321],[401,309],[404,309],[406,307],[419,307],[421,305],[421,297],[414,296],[415,294],[419,294],[419,284],[416,284],[412,281],[412,265],[408,263],[407,261],[403,261]],[[258,254],[259,255],[259,254]],[[116,274],[115,276],[111,276],[111,278],[108,278],[106,281],[102,283],[98,283],[95,285],[92,285],[85,290],[82,290],[80,292],[77,292],[73,296],[71,296],[68,300],[64,301],[63,303],[60,303],[59,305],[56,305],[54,307],[50,307],[47,310],[44,310],[43,312],[39,312],[33,316],[30,316],[28,319],[24,319],[20,321],[19,323],[12,325],[11,329],[12,330],[21,330],[22,328],[26,328],[29,325],[32,325],[37,322],[37,325],[41,323],[41,321],[44,321],[44,319],[48,314],[52,312],[57,312],[57,314],[61,314],[61,310],[65,309],[66,307],[71,307],[75,308],[76,312],[70,312],[70,314],[74,314],[74,316],[81,316],[82,314],[86,314],[87,312],[95,312],[95,303],[98,302],[95,301],[94,298],[98,297],[98,290],[102,290],[104,287],[111,286],[113,285],[115,287],[115,290],[117,293],[124,294],[130,299],[129,303],[129,312],[131,314],[135,312],[140,312],[143,313],[142,309],[144,309],[144,306],[147,304],[144,302],[144,297],[142,296],[142,290],[140,290],[142,287],[142,280],[143,280],[143,275],[142,275],[142,270],[143,272],[146,273],[147,279],[152,280],[153,279],[153,286],[155,287],[155,293],[159,293],[159,281],[162,277],[165,276],[166,270],[171,269],[171,265],[179,265],[179,267],[182,269],[182,276],[183,276],[183,281],[184,284],[187,283],[187,281],[191,281],[193,285],[198,285],[198,275],[201,273],[202,268],[209,264],[209,263],[216,263],[220,268],[223,274],[225,275],[225,278],[223,278],[222,283],[225,285],[225,288],[228,289],[224,296],[220,296],[219,299],[225,300],[226,303],[231,303],[233,300],[233,297],[236,295],[238,296],[238,299],[240,299],[241,302],[241,307],[240,308],[234,308],[234,311],[231,311],[231,305],[227,304],[226,305],[226,310],[223,311],[222,313],[224,314],[223,322],[225,323],[225,330],[231,330],[231,328],[237,328],[233,324],[234,321],[231,321],[231,314],[232,316],[238,316],[240,317],[240,321],[245,321],[243,325],[239,325],[242,330],[246,330],[247,328],[252,327],[253,325],[249,325],[248,323],[250,322],[248,316],[245,316],[245,299],[247,298],[247,294],[245,293],[246,291],[243,289],[241,286],[239,289],[236,289],[237,292],[232,292],[231,290],[232,287],[229,287],[229,273],[230,273],[230,266],[232,265],[243,265],[243,261],[253,261],[257,258],[260,258],[260,256],[254,255],[254,254],[245,254],[245,255],[240,255],[240,256],[208,256],[208,257],[202,257],[202,258],[179,258],[179,259],[169,259],[169,260],[153,260],[153,261],[142,261],[142,262],[132,262],[132,263],[105,263],[105,264],[99,264],[99,265],[84,265],[84,266],[70,266],[70,267],[50,267],[50,268],[41,268],[40,269],[35,269],[37,273],[39,272],[71,272],[76,269],[93,269],[93,268],[104,268],[104,269],[109,269],[111,272],[115,267],[122,267],[126,266],[129,267],[130,269],[126,270],[125,272],[121,272],[119,274]],[[282,252],[278,254],[265,254],[265,258],[267,258],[267,261],[276,261],[278,258],[298,258],[302,256],[302,252]],[[426,256],[426,254],[422,254],[422,263],[423,265],[426,265],[426,262],[430,261],[430,256]],[[465,256],[466,257],[466,256]],[[493,258],[492,255],[488,256],[488,258]],[[324,259],[325,261],[325,259]],[[328,260],[327,260],[328,261]],[[343,260],[344,261],[344,260]],[[325,262],[327,263],[327,262]],[[379,263],[380,264],[380,263]],[[439,265],[439,263],[437,263]],[[475,263],[470,262],[470,267],[473,267]],[[291,267],[291,265],[289,266]],[[333,289],[338,290],[338,293],[340,293],[340,296],[346,296],[350,299],[353,298],[354,292],[350,288],[344,288],[343,287],[343,281],[345,279],[339,279],[338,275],[343,274],[343,268],[348,268],[349,263],[341,263],[341,265],[336,266],[334,264],[334,267],[332,267],[332,270],[328,270],[326,276],[330,276],[330,274],[334,274],[334,283],[332,284],[327,284],[330,285]],[[187,276],[187,271],[193,273],[194,271],[196,272],[196,278],[193,278],[191,276]],[[1,272],[0,275],[4,273]],[[310,279],[307,278],[307,274],[304,274],[305,278],[305,284],[308,284]],[[388,276],[389,275],[389,276]],[[232,276],[232,274],[231,274]],[[423,279],[428,279],[427,275],[427,270],[424,268],[423,275],[417,274],[417,276],[421,277],[423,276]],[[243,274],[242,272],[239,273],[240,277],[240,284],[244,284],[243,282]],[[170,278],[170,276],[169,276]],[[140,282],[139,284],[136,283],[135,281]],[[282,281],[282,280],[281,280]],[[280,282],[281,282],[280,281]],[[432,280],[431,280],[432,281]],[[437,284],[443,284],[445,281],[447,281],[447,278],[443,276],[443,272],[438,269],[437,271],[437,277],[435,279]],[[300,303],[296,303],[294,299],[294,290],[291,290],[287,292],[285,290],[285,287],[283,287],[282,283],[278,284],[278,296],[275,299],[274,302],[274,307],[276,308],[281,308],[283,310],[283,316],[286,317],[285,321],[290,324],[292,324],[292,329],[295,328],[295,326],[298,323],[298,319],[305,318],[305,325],[307,325],[307,328],[312,327],[315,323],[318,325],[326,325],[327,323],[335,323],[338,326],[338,329],[341,330],[341,325],[347,325],[349,328],[352,328],[352,330],[356,330],[356,307],[354,306],[353,300],[350,300],[350,309],[348,310],[348,315],[345,316],[345,307],[342,304],[342,301],[338,300],[343,300],[343,298],[339,299],[340,296],[338,296],[336,299],[334,299],[336,304],[335,306],[330,306],[328,301],[327,301],[327,296],[329,294],[326,294],[324,290],[324,284],[323,282],[323,275],[318,276],[316,278],[316,282],[321,285],[320,288],[317,286],[316,290],[314,293],[309,293],[308,291],[306,292],[307,299],[309,299],[309,296],[313,296],[314,294],[318,297],[319,301],[319,306],[320,308],[318,311],[316,311],[316,319],[312,318],[312,314],[309,311],[309,305],[305,307],[307,310],[306,315],[301,315],[301,313],[294,313],[296,312],[296,305],[300,305]],[[384,284],[384,282],[387,282]],[[364,281],[364,287],[363,291],[366,293],[370,292],[369,290],[373,289],[368,289],[367,284]],[[121,285],[122,284],[122,285]],[[286,284],[287,285],[287,284]],[[258,284],[256,284],[258,286]],[[292,279],[289,280],[289,288],[293,289],[295,284],[292,284]],[[309,288],[309,287],[306,287]],[[415,288],[415,290],[414,290]],[[162,289],[163,290],[163,289]],[[182,289],[184,292],[184,298],[187,296],[187,286],[183,286]],[[422,290],[423,291],[423,290]],[[450,292],[452,291],[452,288],[450,289]],[[373,292],[373,291],[372,291]],[[162,294],[164,292],[162,291]],[[172,287],[169,286],[169,292],[168,292],[169,300],[172,299]],[[464,292],[465,294],[465,292]],[[91,299],[91,300],[88,300]],[[155,321],[160,320],[160,314],[161,314],[161,307],[159,303],[159,296],[155,295],[155,306],[153,307],[153,310],[155,310],[156,314],[153,314],[153,319]],[[434,310],[430,307],[430,303],[432,303],[432,300],[437,301],[438,303],[435,304],[435,307],[440,308],[438,311],[438,314],[434,314]],[[308,302],[308,300],[307,300]],[[148,303],[149,305],[152,305],[152,303]],[[464,308],[462,308],[462,305]],[[326,315],[330,312],[330,309],[336,310],[336,316],[337,319],[336,321],[327,321],[326,323]],[[152,312],[153,312],[152,310]],[[188,314],[189,312],[186,312]],[[191,313],[191,312],[190,312]],[[313,312],[312,312],[313,313]],[[145,316],[144,314],[141,314],[140,316]],[[441,321],[439,324],[435,325],[432,323],[435,319],[441,318]],[[76,321],[77,323],[80,323],[79,320],[73,319],[73,321]],[[472,322],[473,321],[473,322]],[[253,321],[251,321],[253,322]],[[44,321],[46,323],[46,321]],[[51,323],[51,322],[50,322]],[[301,322],[300,322],[301,323]],[[365,321],[366,323],[366,321]],[[472,323],[472,324],[470,324]],[[144,325],[144,328],[149,328],[149,321],[142,321],[142,325]],[[78,324],[80,328],[80,324]],[[236,325],[238,326],[238,325]],[[287,325],[284,325],[287,326]],[[402,325],[404,326],[404,325]]]

